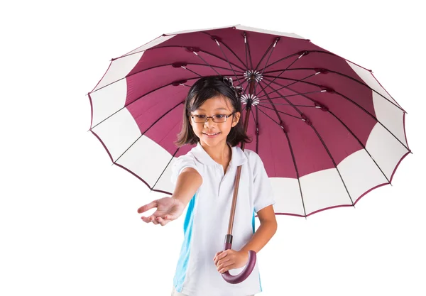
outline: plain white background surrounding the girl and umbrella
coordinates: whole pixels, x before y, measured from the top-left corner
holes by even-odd
[[[238,2],[2,5],[0,295],[170,295],[183,216],[141,221],[138,207],[165,194],[111,165],[87,132],[86,94],[111,57],[163,33],[236,24],[302,35],[373,70],[408,111],[414,153],[356,209],[277,216],[258,253],[260,295],[426,295],[421,1]]]

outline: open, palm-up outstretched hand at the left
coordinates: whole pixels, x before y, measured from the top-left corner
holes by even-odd
[[[153,224],[161,224],[161,226],[165,226],[168,222],[178,219],[185,209],[185,205],[179,199],[163,197],[140,207],[138,213],[146,212],[148,209],[153,209],[154,207],[157,210],[151,216],[141,216],[141,219],[146,223],[153,222]]]

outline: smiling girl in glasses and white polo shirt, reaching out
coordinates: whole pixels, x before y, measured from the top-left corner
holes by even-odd
[[[176,144],[197,146],[173,164],[172,197],[138,209],[143,213],[155,207],[156,212],[141,219],[164,226],[178,219],[189,204],[172,295],[248,296],[262,291],[257,263],[241,283],[227,283],[221,275],[227,270],[231,275],[244,270],[249,250],[261,251],[277,229],[271,182],[262,160],[253,150],[243,151],[237,146],[250,142],[240,116],[241,102],[231,80],[210,76],[195,82],[185,99],[183,126]],[[239,165],[232,249],[223,251]],[[261,222],[256,233],[255,212]]]

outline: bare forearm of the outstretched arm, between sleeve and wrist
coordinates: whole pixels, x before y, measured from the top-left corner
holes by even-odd
[[[200,173],[194,168],[185,168],[178,176],[172,198],[182,202],[185,208],[201,185]]]

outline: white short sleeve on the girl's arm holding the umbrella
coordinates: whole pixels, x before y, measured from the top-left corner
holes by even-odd
[[[273,190],[271,180],[269,180],[268,175],[266,174],[263,161],[257,153],[255,154],[255,165],[253,166],[254,170],[254,212],[259,212],[264,207],[268,207],[271,204],[275,204],[275,199],[273,198]]]

